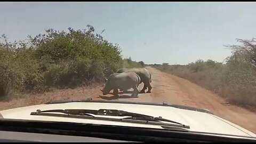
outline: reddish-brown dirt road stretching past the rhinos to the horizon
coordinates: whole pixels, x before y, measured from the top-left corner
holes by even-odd
[[[151,93],[139,94],[139,98],[131,98],[131,94],[119,94],[116,99],[113,95],[99,95],[93,99],[141,101],[141,102],[163,102],[204,108],[212,111],[215,115],[227,119],[245,129],[256,133],[256,114],[233,105],[227,105],[226,101],[208,90],[189,82],[186,79],[163,73],[155,68],[147,67],[153,77]],[[143,84],[139,85],[141,90]],[[132,90],[132,89],[131,89]],[[98,90],[97,90],[98,91]],[[98,93],[98,92],[97,92]]]

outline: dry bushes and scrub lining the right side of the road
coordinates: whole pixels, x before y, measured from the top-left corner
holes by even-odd
[[[232,50],[225,62],[197,60],[188,65],[150,65],[219,94],[241,106],[256,107],[256,39],[237,39],[241,45]]]

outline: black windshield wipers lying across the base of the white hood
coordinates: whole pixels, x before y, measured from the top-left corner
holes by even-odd
[[[43,113],[64,113],[68,114],[69,116],[74,116],[74,115],[79,115],[79,116],[89,116],[92,118],[97,118],[93,115],[101,115],[101,116],[130,116],[126,118],[119,118],[118,121],[126,121],[126,122],[141,122],[141,123],[148,123],[148,124],[160,124],[160,125],[168,125],[167,123],[164,122],[170,122],[170,123],[175,123],[179,124],[181,127],[186,127],[190,128],[189,125],[184,125],[178,122],[171,121],[169,119],[164,119],[162,117],[153,117],[153,116],[148,116],[148,115],[142,115],[142,114],[137,114],[137,113],[131,113],[128,111],[123,111],[123,110],[116,110],[116,109],[99,109],[99,110],[92,110],[92,109],[53,109],[53,110],[37,110],[37,112],[32,112],[31,115],[41,115]],[[93,115],[92,115],[93,114]],[[50,114],[49,114],[50,115]],[[59,115],[54,115],[54,116],[59,116]],[[100,118],[100,119],[107,119],[107,118]],[[113,118],[109,118],[111,120],[116,120]],[[172,126],[177,126],[177,125],[172,125]]]

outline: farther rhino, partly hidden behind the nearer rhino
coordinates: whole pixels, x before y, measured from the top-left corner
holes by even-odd
[[[146,68],[121,68],[117,71],[117,73],[125,73],[125,72],[135,72],[140,76],[141,82],[144,83],[143,89],[140,93],[145,93],[145,90],[148,88],[147,93],[151,93],[152,86],[150,83],[152,82],[152,77],[149,71]],[[126,90],[124,90],[126,91]]]

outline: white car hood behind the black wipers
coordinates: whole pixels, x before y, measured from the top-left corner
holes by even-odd
[[[241,126],[233,124],[218,116],[203,113],[194,110],[186,110],[174,108],[169,106],[154,106],[154,105],[137,105],[130,103],[104,103],[104,102],[68,102],[57,104],[43,104],[21,108],[14,108],[0,111],[4,118],[11,119],[28,119],[38,121],[58,121],[58,122],[74,122],[74,123],[89,123],[89,124],[107,124],[107,125],[121,125],[121,126],[137,126],[137,127],[151,127],[156,129],[163,129],[161,126],[149,124],[134,124],[127,122],[111,122],[95,119],[82,118],[67,118],[55,116],[38,116],[30,115],[31,112],[51,109],[118,109],[129,111],[131,113],[139,113],[150,115],[154,117],[162,116],[165,119],[170,119],[185,125],[189,125],[189,131],[219,133],[230,135],[241,135],[245,137],[256,137],[256,134],[244,129]]]

